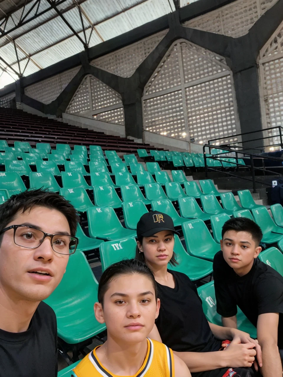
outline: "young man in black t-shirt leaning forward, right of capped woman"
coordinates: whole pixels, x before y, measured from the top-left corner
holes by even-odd
[[[257,327],[263,377],[281,377],[283,277],[257,258],[261,238],[260,227],[250,219],[233,218],[223,225],[221,251],[213,262],[217,313],[223,326],[237,328],[238,305]]]

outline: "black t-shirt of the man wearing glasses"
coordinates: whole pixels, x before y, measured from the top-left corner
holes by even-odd
[[[40,302],[23,333],[0,329],[0,377],[57,377],[57,321]]]

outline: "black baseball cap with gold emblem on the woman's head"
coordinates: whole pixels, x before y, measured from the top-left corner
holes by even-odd
[[[137,223],[137,238],[150,237],[155,233],[163,230],[171,230],[173,233],[180,235],[175,231],[173,220],[166,213],[150,211],[141,216]]]

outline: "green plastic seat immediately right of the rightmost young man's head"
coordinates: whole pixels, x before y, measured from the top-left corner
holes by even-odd
[[[283,228],[278,227],[272,220],[266,207],[255,208],[252,210],[254,221],[260,226],[263,233],[261,242],[272,244],[283,238]]]

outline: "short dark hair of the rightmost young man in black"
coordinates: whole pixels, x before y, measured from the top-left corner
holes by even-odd
[[[251,219],[246,217],[235,217],[227,220],[222,227],[222,239],[224,234],[229,230],[235,230],[236,232],[247,232],[251,234],[252,239],[257,245],[260,244],[262,231],[260,227]]]

